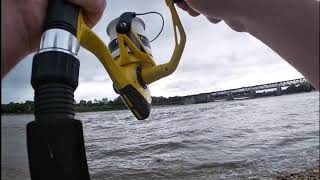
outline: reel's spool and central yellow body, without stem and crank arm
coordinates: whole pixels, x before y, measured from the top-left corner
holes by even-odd
[[[121,26],[121,22],[126,23]],[[110,76],[124,77],[124,81],[119,81],[113,86],[137,119],[146,119],[149,116],[152,101],[149,88],[141,77],[141,71],[155,66],[151,57],[150,42],[144,36],[144,29],[144,22],[135,17],[135,13],[130,12],[122,14],[107,27],[111,39],[108,48],[119,68],[116,74]]]

